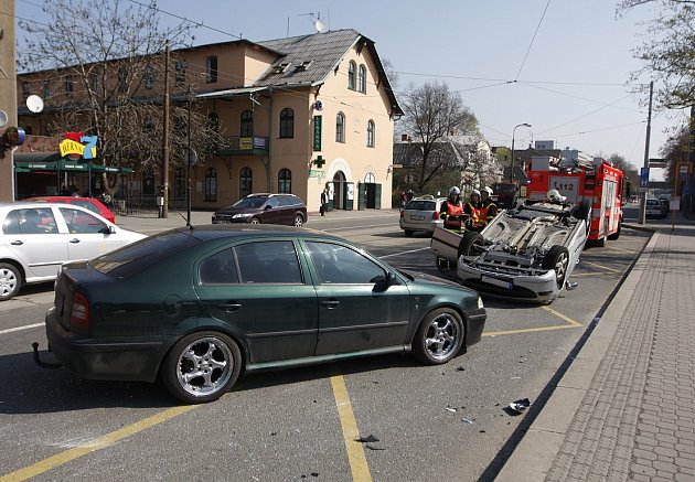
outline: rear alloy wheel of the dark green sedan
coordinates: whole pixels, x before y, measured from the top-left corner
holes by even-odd
[[[213,331],[192,333],[181,339],[162,364],[167,389],[185,404],[216,400],[236,383],[242,354],[227,335]]]

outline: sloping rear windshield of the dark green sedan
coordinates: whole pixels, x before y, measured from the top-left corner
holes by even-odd
[[[189,232],[162,233],[94,258],[89,265],[105,275],[127,278],[197,243],[201,239]]]

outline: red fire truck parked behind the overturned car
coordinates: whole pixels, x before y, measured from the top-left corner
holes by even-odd
[[[526,174],[528,184],[521,188],[522,197],[542,200],[549,190],[556,189],[571,204],[585,202],[591,206],[590,242],[603,246],[606,239],[618,239],[626,189],[620,169],[601,158],[559,161],[555,165],[550,158],[533,158]]]

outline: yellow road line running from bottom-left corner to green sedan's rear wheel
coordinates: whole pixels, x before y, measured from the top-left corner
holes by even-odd
[[[41,473],[47,472],[51,469],[55,469],[58,465],[63,465],[72,460],[78,459],[79,457],[86,456],[96,450],[104,449],[113,443],[116,443],[119,440],[122,440],[131,435],[135,435],[139,431],[142,431],[147,428],[159,425],[163,421],[169,420],[170,418],[178,417],[179,415],[185,414],[189,410],[195,408],[195,405],[188,405],[182,407],[173,407],[168,410],[160,411],[151,417],[131,424],[127,427],[124,427],[119,430],[107,433],[103,437],[94,439],[85,444],[74,447],[70,450],[65,450],[61,453],[57,453],[53,457],[49,457],[40,462],[28,465],[23,469],[19,469],[14,472],[8,473],[7,475],[0,476],[0,482],[18,482],[24,481],[26,479],[31,479],[32,476],[36,476]]]

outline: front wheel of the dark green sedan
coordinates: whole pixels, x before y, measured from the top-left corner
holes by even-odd
[[[440,365],[453,358],[463,344],[463,321],[451,308],[430,311],[420,323],[413,341],[413,353],[428,365]]]

